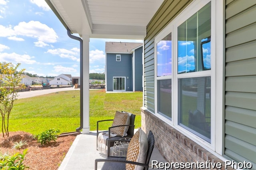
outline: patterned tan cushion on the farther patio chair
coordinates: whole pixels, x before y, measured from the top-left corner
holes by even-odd
[[[116,115],[114,117],[112,127],[119,126],[119,125],[129,125],[131,115],[132,115],[131,113],[116,111]],[[126,136],[128,128],[129,128],[128,126],[127,127],[115,127],[115,128],[111,128],[110,132],[113,132],[120,136]]]

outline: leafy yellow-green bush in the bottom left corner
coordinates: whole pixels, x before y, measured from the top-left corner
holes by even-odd
[[[29,168],[23,164],[24,157],[27,153],[28,149],[23,151],[23,154],[16,153],[13,156],[8,154],[0,153],[0,169],[4,170],[24,170]]]

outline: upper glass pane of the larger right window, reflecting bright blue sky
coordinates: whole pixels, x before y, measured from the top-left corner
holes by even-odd
[[[211,68],[210,2],[178,26],[178,73]]]

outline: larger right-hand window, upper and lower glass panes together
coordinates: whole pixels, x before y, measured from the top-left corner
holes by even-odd
[[[201,8],[178,26],[178,114],[179,125],[211,142],[211,4]],[[208,75],[208,76],[206,76]]]

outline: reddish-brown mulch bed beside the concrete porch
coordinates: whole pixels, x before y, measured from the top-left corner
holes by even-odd
[[[46,146],[41,146],[33,135],[27,132],[10,132],[9,137],[0,134],[0,153],[13,155],[16,152],[23,153],[25,148],[28,152],[23,164],[29,166],[29,170],[57,170],[76,136],[58,137]],[[14,149],[13,142],[27,141],[24,149]]]

